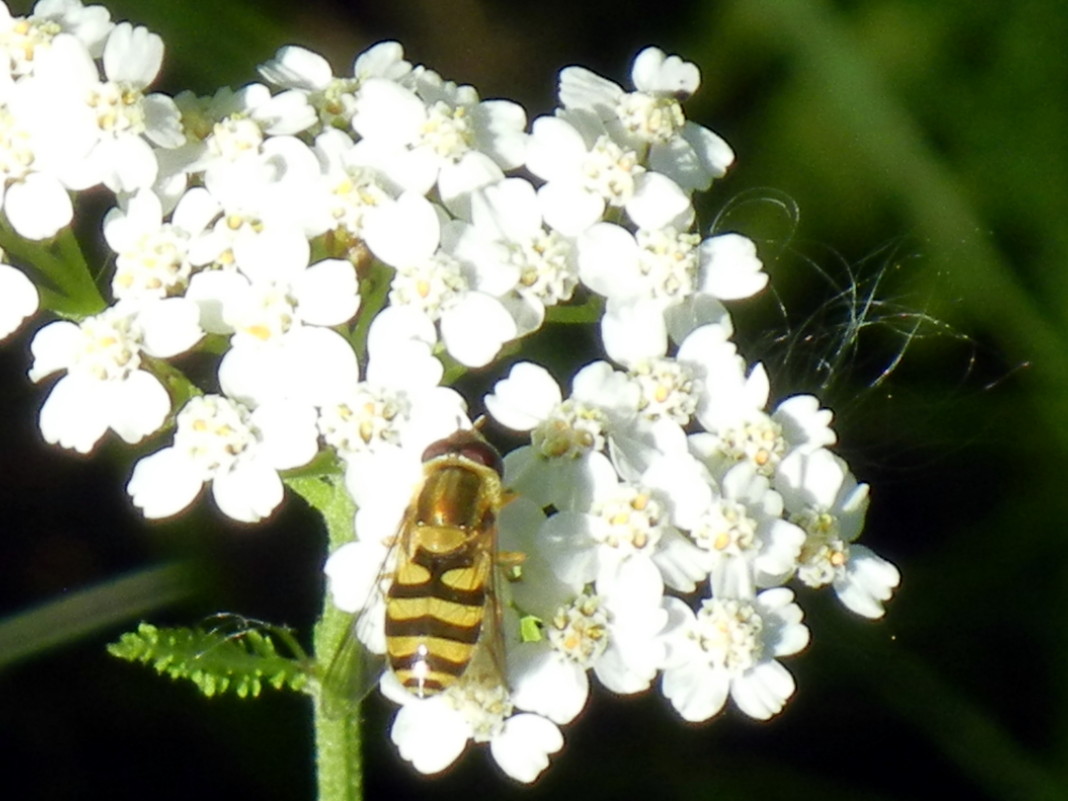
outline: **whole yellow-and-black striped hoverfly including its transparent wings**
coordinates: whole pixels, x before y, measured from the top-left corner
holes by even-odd
[[[423,478],[404,515],[382,575],[384,661],[413,695],[436,695],[460,680],[504,679],[500,606],[494,586],[497,515],[505,502],[502,461],[477,431],[461,429],[423,453]],[[376,582],[375,593],[381,593]],[[358,703],[381,661],[357,630],[374,597],[346,632],[324,678],[329,711]]]

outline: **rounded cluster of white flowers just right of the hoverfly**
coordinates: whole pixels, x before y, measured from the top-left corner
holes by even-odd
[[[587,671],[618,693],[662,672],[686,720],[728,696],[764,720],[795,689],[779,658],[808,642],[784,584],[831,585],[849,610],[883,614],[898,572],[854,544],[867,485],[827,450],[830,412],[795,396],[768,413],[767,396],[764,370],[747,375],[710,324],[674,357],[587,365],[567,399],[531,363],[486,398],[531,433],[505,457],[505,483],[535,511],[516,519],[509,506],[501,520],[502,546],[527,553],[516,603],[543,626],[509,657],[519,707],[566,723],[586,703]]]

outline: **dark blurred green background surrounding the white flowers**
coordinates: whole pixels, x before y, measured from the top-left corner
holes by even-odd
[[[342,73],[370,44],[398,38],[411,60],[533,117],[552,107],[563,65],[626,82],[647,44],[696,62],[689,115],[738,154],[702,213],[725,210],[721,226],[758,239],[781,290],[781,303],[735,307],[739,341],[771,366],[776,396],[818,391],[836,410],[839,451],[873,485],[865,541],[904,576],[878,623],[803,594],[813,645],[787,661],[799,691],[778,720],[728,711],[690,726],[656,694],[598,692],[533,789],[483,753],[420,778],[373,704],[368,798],[1068,798],[1062,3],[111,7],[163,36],[168,91],[239,85],[286,43]],[[313,798],[302,700],[205,702],[104,645],[141,616],[188,624],[219,610],[307,632],[321,591],[315,518],[294,501],[266,528],[234,527],[206,505],[145,524],[122,489],[129,450],[84,459],[44,446],[26,337],[0,359],[0,612],[172,560],[197,577],[166,608],[140,611],[124,592],[94,596],[103,610],[79,600],[75,621],[119,619],[0,669],[4,795]]]

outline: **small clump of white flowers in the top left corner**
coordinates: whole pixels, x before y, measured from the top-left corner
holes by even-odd
[[[145,93],[162,57],[159,36],[100,5],[41,0],[14,17],[0,4],[0,184],[19,235],[67,225],[67,190],[152,186],[154,150],[185,140],[174,101]]]

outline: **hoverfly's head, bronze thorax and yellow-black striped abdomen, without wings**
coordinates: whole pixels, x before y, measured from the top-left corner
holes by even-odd
[[[500,456],[477,434],[457,431],[427,449],[386,597],[387,658],[415,695],[459,680],[481,644],[501,497]]]

